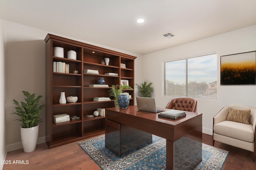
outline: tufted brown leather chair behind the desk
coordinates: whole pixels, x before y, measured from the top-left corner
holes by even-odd
[[[196,112],[196,104],[197,101],[192,98],[176,98],[172,99],[165,108]]]

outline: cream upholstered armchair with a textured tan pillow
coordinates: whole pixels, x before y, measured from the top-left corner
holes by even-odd
[[[230,105],[213,118],[213,143],[219,141],[253,152],[256,158],[256,108]]]

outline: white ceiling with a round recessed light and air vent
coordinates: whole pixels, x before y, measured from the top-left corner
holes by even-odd
[[[0,0],[0,18],[145,55],[255,25],[255,7],[256,0]]]

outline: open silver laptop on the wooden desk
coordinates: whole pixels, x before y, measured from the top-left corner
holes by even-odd
[[[156,102],[154,98],[136,97],[137,107],[140,111],[148,111],[152,113],[158,113],[164,111],[162,109],[156,109]]]

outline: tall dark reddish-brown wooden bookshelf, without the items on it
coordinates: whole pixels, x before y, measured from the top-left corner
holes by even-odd
[[[72,39],[48,34],[46,42],[46,143],[49,148],[66,145],[74,141],[94,137],[105,132],[104,116],[88,118],[97,108],[114,107],[114,100],[93,101],[94,97],[109,97],[112,85],[128,80],[134,88],[134,60],[136,57],[124,53],[89,45]],[[54,56],[53,47],[64,48],[64,58]],[[68,59],[67,52],[76,51],[76,60]],[[101,64],[104,58],[110,58],[109,65]],[[69,73],[53,72],[53,62],[69,64]],[[121,63],[126,68],[121,68]],[[84,70],[98,70],[99,74],[84,73]],[[78,74],[74,74],[77,70]],[[105,73],[117,73],[118,76]],[[98,84],[103,77],[109,87],[89,87]],[[134,105],[134,90],[125,90],[132,95],[130,105]],[[59,104],[60,92],[65,96],[77,96],[75,103]],[[78,120],[54,123],[53,115],[67,113],[77,115]]]

